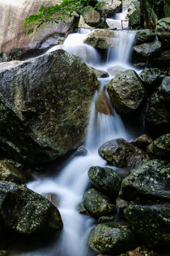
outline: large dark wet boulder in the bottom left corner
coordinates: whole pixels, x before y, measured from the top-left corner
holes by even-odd
[[[60,212],[47,198],[6,181],[0,181],[0,191],[0,225],[8,232],[43,238],[62,230]]]

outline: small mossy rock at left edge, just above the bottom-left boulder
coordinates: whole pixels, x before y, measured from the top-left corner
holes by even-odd
[[[23,184],[28,181],[28,175],[24,174],[21,169],[18,169],[14,164],[8,161],[0,161],[0,180],[10,181],[18,184]]]

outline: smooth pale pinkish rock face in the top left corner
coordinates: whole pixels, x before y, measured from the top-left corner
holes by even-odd
[[[72,30],[74,28],[74,17],[67,17],[66,23],[46,23],[29,36],[26,34],[26,30],[19,30],[23,26],[23,20],[32,14],[38,14],[41,6],[50,6],[58,3],[59,1],[57,0],[30,0],[29,2],[26,0],[13,0],[10,3],[1,0],[0,52],[7,53],[11,49],[17,50],[18,48],[23,52],[35,49],[48,36],[54,33],[64,35]]]

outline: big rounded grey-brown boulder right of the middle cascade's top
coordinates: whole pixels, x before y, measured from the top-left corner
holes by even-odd
[[[145,105],[146,92],[134,70],[124,70],[115,75],[106,89],[118,114],[131,116],[139,113]]]

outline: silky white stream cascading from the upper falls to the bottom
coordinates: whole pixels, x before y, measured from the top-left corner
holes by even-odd
[[[129,63],[130,51],[135,34],[128,31],[115,31],[115,48],[109,49],[106,63],[103,63],[101,55],[92,47],[83,43],[90,30],[81,29],[78,33],[73,33],[67,37],[63,46],[55,46],[50,49],[64,48],[64,50],[79,56],[88,65],[101,70],[122,70],[132,68]],[[133,68],[134,69],[134,68]],[[88,133],[84,146],[88,150],[86,156],[77,156],[69,161],[56,177],[37,178],[27,184],[33,191],[45,194],[52,193],[57,197],[57,207],[62,215],[64,230],[60,233],[60,238],[52,242],[49,246],[29,252],[20,252],[15,255],[24,256],[92,256],[96,252],[89,249],[87,240],[91,229],[94,228],[94,220],[86,215],[79,214],[77,206],[82,200],[82,196],[89,186],[87,171],[91,166],[106,166],[106,161],[98,155],[98,147],[110,139],[123,138],[133,139],[126,131],[122,120],[115,113],[105,90],[106,84],[113,78],[100,78],[100,92],[104,92],[110,106],[111,114],[96,114],[96,98],[91,102],[91,114],[89,119]],[[99,93],[100,93],[99,92]]]

